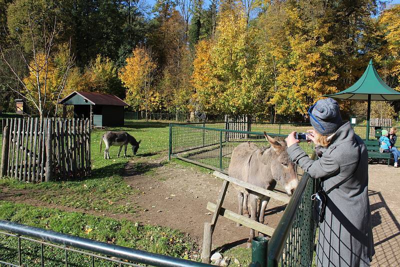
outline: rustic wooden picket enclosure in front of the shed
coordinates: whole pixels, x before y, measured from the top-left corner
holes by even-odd
[[[0,177],[42,182],[90,174],[89,119],[11,118],[3,129]]]

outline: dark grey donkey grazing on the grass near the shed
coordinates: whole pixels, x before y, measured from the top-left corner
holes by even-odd
[[[124,145],[125,146],[124,156],[126,157],[126,147],[128,143],[132,146],[132,152],[135,155],[137,149],[139,148],[139,143],[141,140],[137,142],[136,139],[126,131],[107,131],[106,133],[103,134],[103,136],[101,136],[100,152],[101,152],[102,141],[104,141],[105,143],[104,158],[109,159],[108,149],[111,145],[119,146],[118,157],[119,153],[122,150],[122,146]]]

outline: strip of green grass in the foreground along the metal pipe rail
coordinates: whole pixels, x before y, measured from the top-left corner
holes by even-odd
[[[158,254],[198,260],[197,246],[187,235],[167,227],[141,225],[127,220],[92,216],[79,212],[65,212],[59,209],[34,207],[0,201],[0,219],[28,224],[57,232],[95,239],[112,244],[146,250]],[[22,241],[22,265],[40,264],[40,246]],[[0,235],[1,260],[17,263],[17,242],[15,237]],[[64,264],[64,251],[45,247],[46,266]],[[69,264],[89,265],[90,258],[77,253],[68,253]],[[114,266],[109,262],[96,260],[96,266]]]

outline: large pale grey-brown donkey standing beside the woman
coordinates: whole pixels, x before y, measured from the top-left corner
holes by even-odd
[[[276,181],[284,187],[287,195],[291,196],[297,187],[295,165],[287,154],[287,145],[283,138],[272,138],[264,132],[270,147],[258,147],[255,143],[244,142],[233,149],[228,168],[229,176],[254,184],[259,187],[273,190]],[[249,217],[247,210],[247,196],[250,204],[250,218],[264,223],[264,212],[269,201],[268,196],[234,185],[238,190],[238,213]],[[257,201],[259,207],[257,212]],[[240,224],[237,224],[240,226]],[[251,247],[254,229],[250,230],[247,247]]]

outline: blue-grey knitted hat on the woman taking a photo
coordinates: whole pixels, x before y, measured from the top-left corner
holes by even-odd
[[[319,99],[310,116],[312,127],[322,135],[330,135],[341,126],[339,104],[332,98]]]

